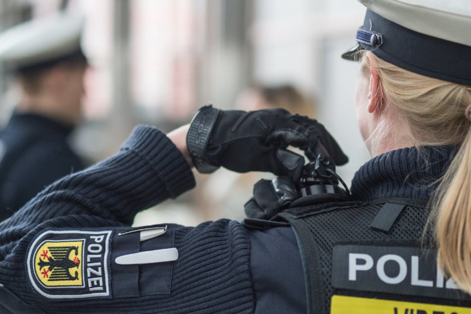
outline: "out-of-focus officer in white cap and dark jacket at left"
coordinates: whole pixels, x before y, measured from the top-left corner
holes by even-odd
[[[0,61],[19,90],[0,131],[0,220],[56,179],[83,168],[68,144],[84,93],[82,26],[82,16],[61,13],[0,34]]]

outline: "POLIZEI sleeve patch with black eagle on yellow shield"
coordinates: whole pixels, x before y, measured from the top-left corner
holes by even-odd
[[[26,258],[33,289],[50,299],[110,298],[111,233],[109,230],[40,233]]]

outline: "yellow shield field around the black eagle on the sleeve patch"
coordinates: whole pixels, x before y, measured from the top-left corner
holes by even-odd
[[[78,267],[78,269],[77,268],[70,268],[70,271],[71,271],[72,275],[75,274],[75,271],[78,272],[78,280],[48,281],[49,278],[44,277],[44,275],[41,272],[45,268],[49,269],[49,267],[44,266],[42,269],[40,269],[40,266],[38,265],[38,262],[40,261],[40,258],[41,258],[41,254],[43,254],[43,250],[48,250],[49,251],[49,248],[64,247],[64,246],[65,247],[78,247],[77,257],[80,260],[79,267]],[[51,253],[49,253],[48,255],[51,256]],[[70,252],[70,254],[67,258],[70,259],[70,260],[73,260],[75,258],[74,251]],[[44,261],[44,258],[41,258],[41,260]],[[36,276],[38,277],[38,279],[45,286],[48,286],[48,287],[54,287],[54,286],[82,286],[83,285],[83,240],[82,241],[60,241],[60,242],[48,241],[48,242],[45,242],[36,251],[35,259],[34,259],[34,267],[35,267]],[[49,272],[49,274],[50,273],[51,272]]]

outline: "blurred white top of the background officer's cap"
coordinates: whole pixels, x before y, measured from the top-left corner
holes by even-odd
[[[69,55],[80,47],[85,18],[65,12],[33,19],[0,33],[0,62],[21,69]]]

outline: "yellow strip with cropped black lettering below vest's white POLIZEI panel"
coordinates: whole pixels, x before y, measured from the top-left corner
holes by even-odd
[[[470,308],[333,296],[330,314],[471,314]]]

